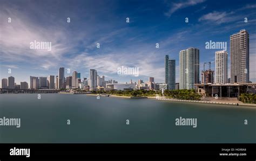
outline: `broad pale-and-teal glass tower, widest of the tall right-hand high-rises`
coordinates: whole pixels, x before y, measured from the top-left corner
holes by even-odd
[[[193,89],[199,83],[199,50],[191,47],[179,52],[180,89]]]

